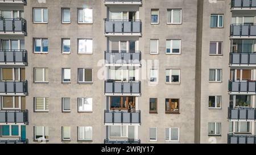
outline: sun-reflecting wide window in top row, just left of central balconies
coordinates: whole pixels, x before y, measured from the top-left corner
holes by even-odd
[[[78,23],[93,23],[93,11],[92,9],[79,9]]]

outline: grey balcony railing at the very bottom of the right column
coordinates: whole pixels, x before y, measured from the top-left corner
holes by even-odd
[[[256,136],[228,134],[228,144],[256,144]]]

